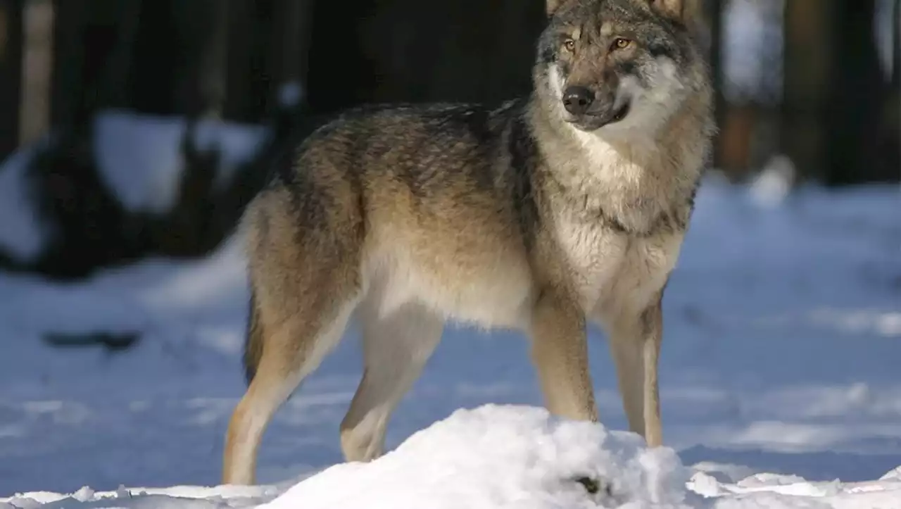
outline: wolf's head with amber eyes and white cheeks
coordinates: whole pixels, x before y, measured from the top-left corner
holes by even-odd
[[[656,132],[687,98],[709,94],[687,1],[547,0],[539,99],[582,132]]]

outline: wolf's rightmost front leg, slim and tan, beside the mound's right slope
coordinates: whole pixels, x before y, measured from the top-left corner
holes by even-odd
[[[639,313],[626,312],[599,321],[607,332],[629,429],[641,434],[649,446],[659,446],[663,441],[657,381],[663,337],[660,296]]]

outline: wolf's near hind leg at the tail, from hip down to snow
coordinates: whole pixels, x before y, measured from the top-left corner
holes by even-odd
[[[226,433],[223,484],[254,483],[273,414],[341,340],[359,303],[362,221],[356,208],[339,206],[355,201],[331,170],[292,170],[290,183],[258,195],[242,217],[254,306],[244,359],[252,379]]]

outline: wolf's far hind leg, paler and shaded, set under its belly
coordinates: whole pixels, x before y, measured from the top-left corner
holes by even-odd
[[[387,423],[441,341],[441,316],[407,303],[380,316],[378,298],[360,305],[365,370],[341,422],[341,450],[348,461],[381,456]]]

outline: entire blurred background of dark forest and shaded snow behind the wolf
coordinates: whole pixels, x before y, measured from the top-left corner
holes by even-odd
[[[735,481],[881,477],[901,465],[901,0],[686,1],[720,133],[664,299],[666,441]],[[325,115],[527,94],[544,23],[544,0],[0,0],[0,497],[216,484],[245,388],[243,206]],[[542,403],[519,334],[446,336],[389,448]],[[341,461],[356,347],[277,415],[261,482]]]

